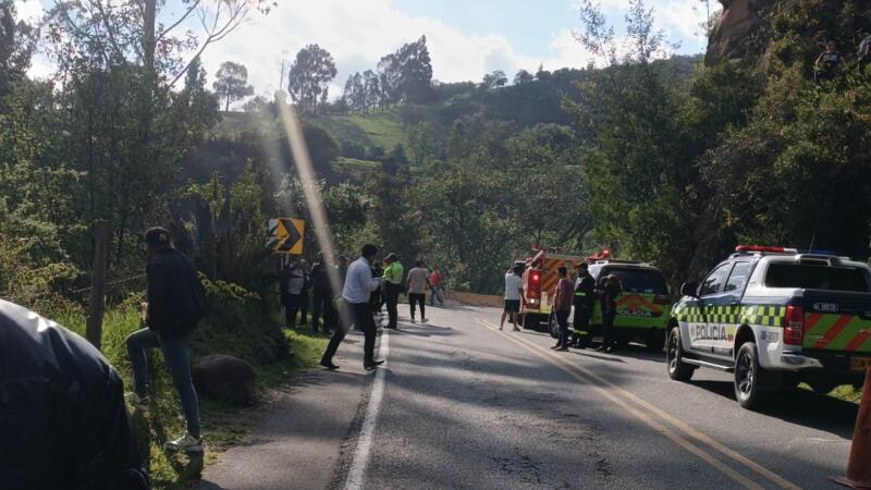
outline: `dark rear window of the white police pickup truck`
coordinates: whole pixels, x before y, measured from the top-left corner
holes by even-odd
[[[803,264],[770,265],[765,275],[765,285],[802,290],[869,292],[868,279],[862,269]]]

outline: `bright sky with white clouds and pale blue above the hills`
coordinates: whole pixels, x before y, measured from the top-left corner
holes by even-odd
[[[584,68],[590,54],[575,40],[580,28],[579,0],[278,0],[268,15],[253,15],[229,37],[208,48],[203,63],[209,83],[223,61],[242,63],[256,94],[279,88],[282,58],[292,61],[309,44],[333,56],[339,71],[331,98],[341,95],[356,71],[375,69],[378,60],[405,42],[427,36],[433,78],[440,82],[480,81],[493,70],[511,78],[519,69],[535,72]],[[617,34],[624,33],[628,0],[599,0]],[[52,0],[16,0],[19,13],[37,19]],[[711,3],[716,3],[712,0]],[[703,0],[647,0],[666,38],[679,44],[678,53],[704,50],[700,24]],[[719,5],[717,5],[719,7]],[[179,11],[169,0],[165,15]],[[51,72],[38,58],[32,74]]]

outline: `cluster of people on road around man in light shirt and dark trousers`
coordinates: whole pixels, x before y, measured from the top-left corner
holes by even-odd
[[[396,254],[391,253],[384,257],[387,267],[383,270],[375,260],[377,256],[378,247],[376,245],[364,245],[360,257],[351,264],[347,272],[341,278],[341,295],[334,302],[339,323],[335,326],[327,351],[320,360],[320,365],[327,369],[339,369],[339,366],[333,363],[333,357],[352,326],[361,330],[364,334],[364,368],[372,370],[382,365],[383,359],[375,358],[375,339],[378,333],[375,322],[376,314],[381,310],[382,306],[387,306],[389,319],[384,328],[397,329],[398,297],[401,294],[407,294],[412,322],[416,322],[418,307],[420,308],[420,321],[427,322],[427,289],[432,291],[433,304],[437,292],[440,294],[442,291],[442,277],[438,267],[429,271],[424,260],[417,260],[403,281],[405,270]],[[438,301],[440,304],[444,304],[441,295]]]

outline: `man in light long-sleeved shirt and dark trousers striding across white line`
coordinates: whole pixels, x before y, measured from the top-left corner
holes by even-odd
[[[375,317],[372,316],[372,305],[369,303],[369,295],[372,291],[381,287],[381,278],[372,277],[372,259],[378,254],[378,247],[371,244],[363,246],[363,254],[360,258],[355,260],[347,269],[345,277],[345,285],[342,289],[342,299],[348,313],[353,315],[353,322],[363,330],[365,341],[363,344],[363,366],[367,370],[375,369],[376,367],[384,364],[383,360],[375,359],[375,338],[377,328],[375,326]],[[330,344],[327,346],[327,352],[320,359],[320,365],[327,369],[339,369],[339,366],[333,364],[333,356],[335,351],[339,350],[339,344],[344,340],[345,334],[351,326],[346,321],[341,321],[335,329]]]

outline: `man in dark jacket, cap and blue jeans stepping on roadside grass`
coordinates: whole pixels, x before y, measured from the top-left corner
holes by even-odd
[[[187,432],[164,444],[170,450],[203,451],[199,406],[191,378],[191,341],[203,318],[203,285],[191,260],[172,246],[162,228],[145,232],[148,255],[147,329],[127,338],[127,354],[133,365],[134,405],[147,411],[148,358],[146,350],[160,348],[172,382],[182,400]]]

